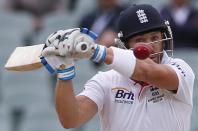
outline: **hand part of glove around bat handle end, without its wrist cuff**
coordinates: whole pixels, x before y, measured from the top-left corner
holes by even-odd
[[[59,41],[59,55],[75,59],[91,58],[94,53],[94,40],[96,38],[97,35],[86,28],[66,30]]]

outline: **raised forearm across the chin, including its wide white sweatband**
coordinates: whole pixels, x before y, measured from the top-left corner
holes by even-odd
[[[177,89],[178,78],[173,69],[170,69],[165,65],[157,64],[149,58],[145,60],[138,60],[135,57],[132,57],[133,52],[128,52],[127,54],[127,52],[123,50],[116,54],[114,53],[116,53],[116,50],[112,50],[111,48],[107,49],[105,63],[113,63],[113,69],[122,75],[138,81],[144,81],[167,90]],[[119,57],[119,59],[115,59],[114,57]],[[116,62],[113,62],[114,60],[116,60]]]

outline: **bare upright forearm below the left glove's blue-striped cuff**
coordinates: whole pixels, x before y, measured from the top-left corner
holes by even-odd
[[[72,81],[57,81],[55,93],[56,110],[65,128],[77,126],[78,102],[73,92]]]

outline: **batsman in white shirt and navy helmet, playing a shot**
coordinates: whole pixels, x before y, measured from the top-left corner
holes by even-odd
[[[97,113],[101,131],[189,131],[195,75],[180,58],[173,58],[170,25],[151,5],[132,5],[119,16],[116,43],[124,49],[96,43],[86,28],[51,34],[41,61],[57,74],[55,106],[64,128],[78,127]],[[134,47],[151,47],[138,59]],[[107,64],[75,95],[74,60]]]

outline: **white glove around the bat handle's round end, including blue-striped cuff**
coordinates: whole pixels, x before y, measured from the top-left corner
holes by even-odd
[[[60,55],[71,56],[75,59],[88,58],[96,63],[104,62],[106,47],[94,42],[97,35],[87,28],[81,28],[79,33],[71,33],[68,39],[60,41],[58,47]],[[68,46],[70,47],[69,50],[66,48]]]

